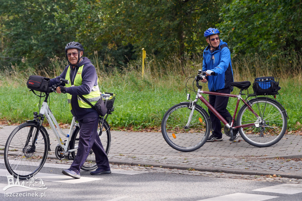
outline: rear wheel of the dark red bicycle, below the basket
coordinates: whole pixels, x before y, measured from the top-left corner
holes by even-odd
[[[255,98],[249,101],[252,109],[261,116],[263,123],[259,127],[250,126],[239,128],[241,137],[255,147],[268,147],[276,144],[283,136],[287,128],[285,110],[274,100],[265,97]],[[237,125],[255,123],[257,117],[243,105],[237,115]]]

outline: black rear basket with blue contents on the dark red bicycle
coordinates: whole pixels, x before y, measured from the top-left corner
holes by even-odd
[[[259,77],[255,78],[253,90],[256,95],[277,95],[279,87],[279,78]]]

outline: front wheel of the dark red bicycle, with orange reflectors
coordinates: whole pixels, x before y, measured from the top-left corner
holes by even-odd
[[[209,115],[199,105],[194,109],[189,128],[185,129],[191,112],[189,104],[185,102],[174,105],[162,119],[162,136],[168,145],[181,152],[199,149],[210,135]]]

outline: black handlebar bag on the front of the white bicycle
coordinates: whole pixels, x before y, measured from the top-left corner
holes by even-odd
[[[40,92],[47,92],[50,78],[39,75],[31,75],[27,80],[27,88]]]

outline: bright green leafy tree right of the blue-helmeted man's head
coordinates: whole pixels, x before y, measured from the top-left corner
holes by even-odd
[[[218,24],[235,53],[301,51],[300,0],[233,0],[222,7]]]

